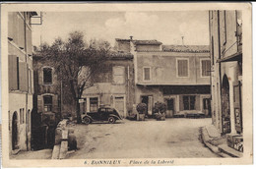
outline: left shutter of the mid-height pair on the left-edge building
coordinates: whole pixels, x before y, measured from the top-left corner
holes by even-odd
[[[8,56],[9,67],[9,89],[19,89],[19,57],[16,55]]]

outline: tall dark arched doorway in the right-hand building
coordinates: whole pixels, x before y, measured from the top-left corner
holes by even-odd
[[[230,102],[229,102],[229,83],[226,75],[224,74],[222,86],[222,121],[223,121],[223,134],[231,132],[230,125]]]

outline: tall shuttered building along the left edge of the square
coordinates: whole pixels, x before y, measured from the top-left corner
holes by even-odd
[[[8,13],[9,149],[31,149],[32,26],[35,12]]]

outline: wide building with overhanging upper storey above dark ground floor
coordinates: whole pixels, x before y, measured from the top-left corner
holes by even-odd
[[[135,107],[167,105],[166,117],[202,112],[211,116],[209,46],[162,45],[158,40],[116,39],[117,50],[134,56]]]

